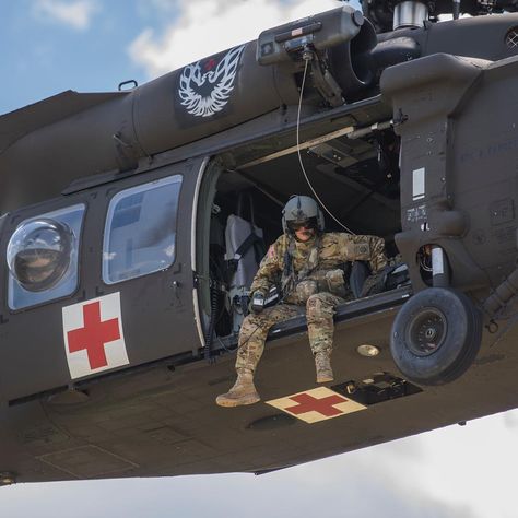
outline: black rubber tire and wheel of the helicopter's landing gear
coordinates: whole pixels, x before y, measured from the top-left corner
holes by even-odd
[[[482,341],[482,317],[460,292],[429,287],[414,295],[392,323],[390,352],[417,385],[444,385],[473,363]]]

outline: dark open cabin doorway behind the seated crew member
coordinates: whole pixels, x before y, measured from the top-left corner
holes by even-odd
[[[304,168],[340,222],[355,234],[382,237],[388,257],[396,257],[399,139],[390,127],[352,137],[316,134],[317,143],[302,151]],[[239,154],[232,167],[214,158],[208,167],[198,201],[196,263],[203,334],[213,351],[237,342],[250,283],[283,232],[281,211],[294,193],[315,198],[296,150],[276,149],[252,161]],[[327,232],[345,232],[326,212],[325,220]]]

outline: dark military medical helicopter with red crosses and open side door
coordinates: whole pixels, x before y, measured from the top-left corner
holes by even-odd
[[[517,10],[341,4],[0,117],[1,483],[263,473],[516,408]],[[302,315],[263,401],[219,408],[293,192],[393,268],[351,278],[337,382]]]

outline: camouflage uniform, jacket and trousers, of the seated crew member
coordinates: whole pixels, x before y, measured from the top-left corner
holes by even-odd
[[[236,370],[254,373],[269,329],[303,314],[304,305],[311,352],[330,353],[334,308],[353,298],[342,267],[356,260],[368,261],[374,273],[382,270],[387,264],[384,240],[344,233],[327,233],[304,243],[287,234],[279,237],[262,259],[250,290],[267,294],[272,285],[281,283],[282,303],[245,318],[239,332]]]

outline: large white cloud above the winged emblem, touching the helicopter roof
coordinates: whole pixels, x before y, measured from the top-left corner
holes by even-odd
[[[153,78],[256,39],[266,28],[340,5],[337,0],[178,0],[178,15],[164,34],[145,28],[129,52]]]

